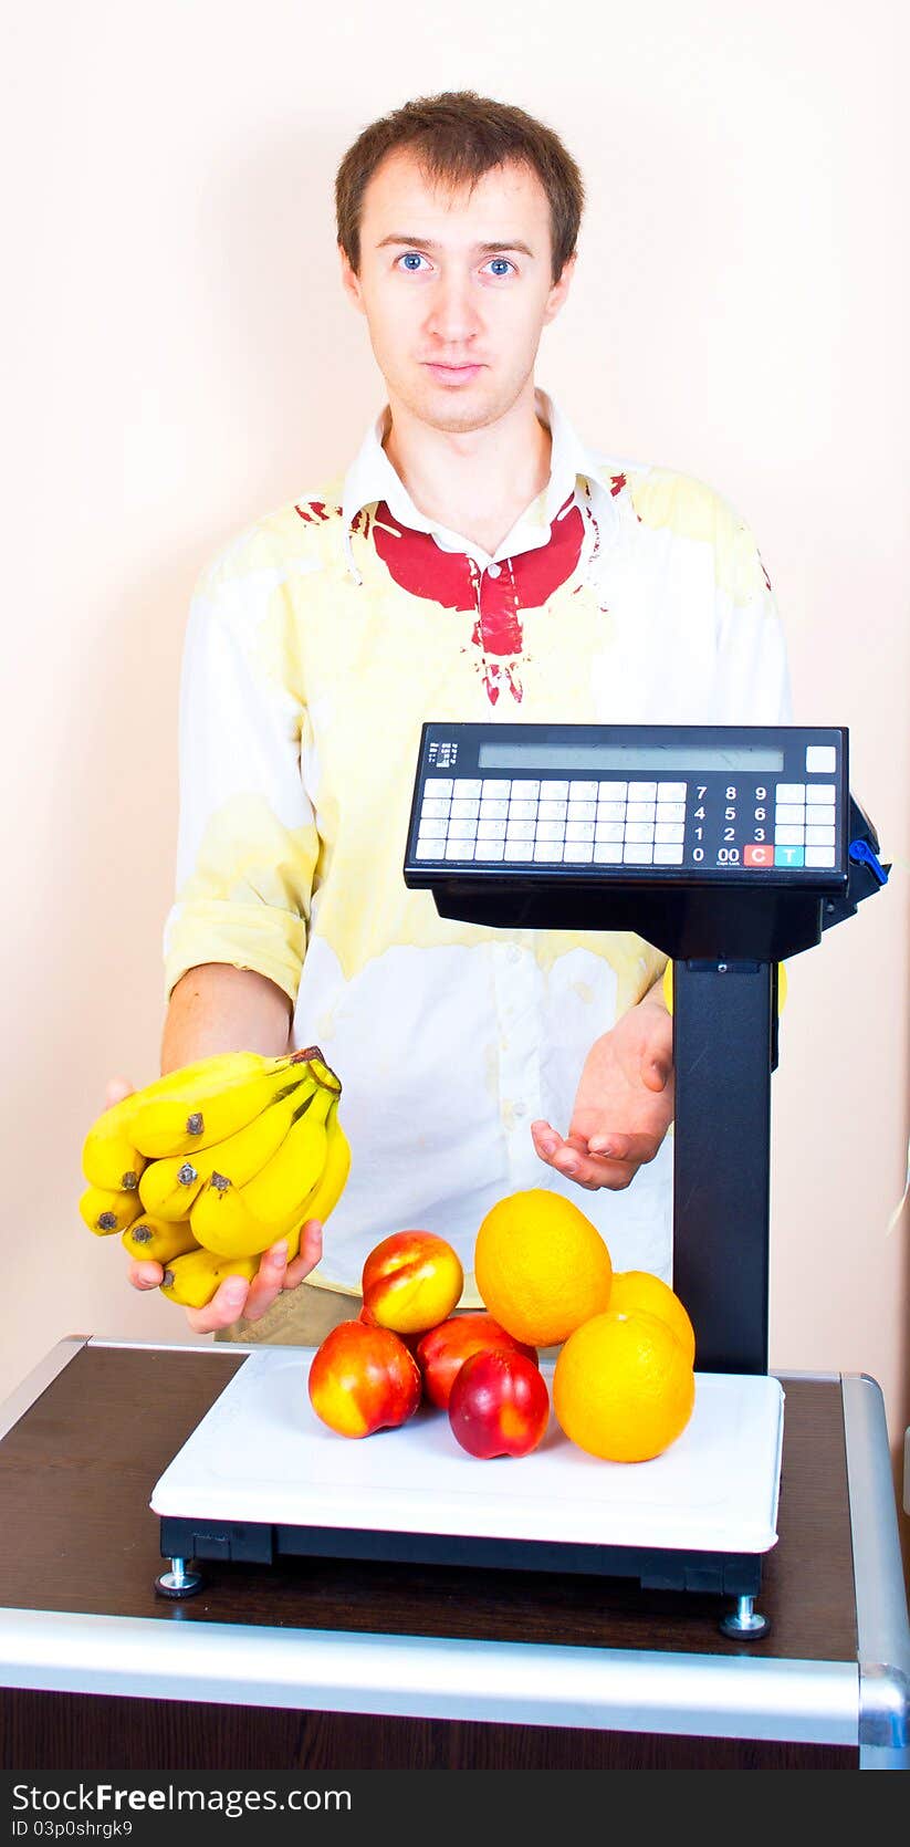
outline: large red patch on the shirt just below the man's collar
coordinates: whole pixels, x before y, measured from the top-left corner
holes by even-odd
[[[395,584],[412,597],[441,602],[443,610],[476,611],[471,641],[478,648],[478,667],[493,706],[504,685],[521,702],[521,611],[541,610],[572,576],[583,537],[581,512],[574,495],[569,495],[550,526],[546,545],[502,558],[493,574],[489,569],[482,571],[467,552],[445,552],[432,534],[402,526],[384,501],[373,519],[373,545]]]

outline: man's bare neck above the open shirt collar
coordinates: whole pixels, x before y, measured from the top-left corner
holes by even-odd
[[[382,447],[426,519],[493,554],[550,478],[550,430],[533,380],[511,408],[476,430],[439,430],[389,393]]]

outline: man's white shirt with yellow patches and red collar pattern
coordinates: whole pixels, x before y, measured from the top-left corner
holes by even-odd
[[[257,968],[293,1045],[343,1082],[353,1147],[314,1282],[356,1293],[393,1230],[458,1249],[506,1193],[552,1188],[617,1269],[670,1278],[672,1141],[622,1193],[556,1175],[593,1042],[663,957],[613,931],[493,931],[404,887],[423,720],[784,724],[784,643],[755,541],[711,488],[585,447],[552,399],[541,495],[491,558],[421,515],[384,449],[257,521],[201,574],[181,687],[166,990]]]

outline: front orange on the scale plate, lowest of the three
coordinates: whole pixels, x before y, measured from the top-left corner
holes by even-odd
[[[696,1402],[696,1376],[665,1321],[635,1310],[593,1315],[569,1335],[554,1370],[565,1435],[611,1463],[646,1463],[676,1443]]]

